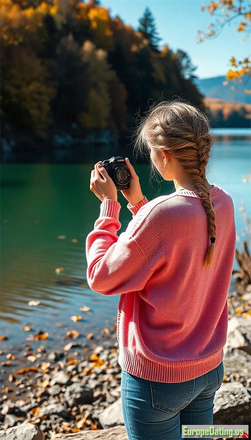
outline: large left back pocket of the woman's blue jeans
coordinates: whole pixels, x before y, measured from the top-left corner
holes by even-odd
[[[161,411],[175,414],[192,400],[195,379],[179,383],[149,382],[152,405]]]

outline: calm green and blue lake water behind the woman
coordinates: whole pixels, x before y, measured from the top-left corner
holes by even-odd
[[[240,241],[248,239],[243,216],[250,216],[250,131],[234,130],[212,130],[215,143],[207,179],[233,198],[236,246],[241,248]],[[112,151],[107,146],[91,149],[92,159],[79,159],[79,163],[1,164],[1,334],[10,337],[12,346],[25,340],[24,325],[48,331],[55,346],[65,327],[82,335],[95,334],[116,321],[120,296],[94,293],[86,283],[85,239],[100,205],[89,190],[90,172],[95,162],[116,154],[128,155],[133,163],[132,145]],[[82,155],[86,157],[87,151]],[[149,200],[173,191],[173,184],[165,181],[159,192],[157,184],[152,188],[148,163],[137,160],[134,166]],[[122,206],[119,235],[132,214],[120,192],[118,201]],[[29,306],[31,300],[40,304]],[[80,311],[84,305],[90,310]],[[82,320],[73,322],[72,315],[81,315]]]

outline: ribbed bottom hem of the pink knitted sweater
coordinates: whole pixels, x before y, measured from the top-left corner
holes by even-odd
[[[188,361],[166,361],[158,364],[150,359],[131,353],[127,347],[119,349],[118,364],[134,376],[154,382],[185,382],[218,367],[223,360],[223,347],[209,356]]]

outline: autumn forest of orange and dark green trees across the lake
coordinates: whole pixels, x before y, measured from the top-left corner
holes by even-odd
[[[225,126],[222,112],[204,106],[189,54],[160,40],[149,8],[134,29],[97,0],[2,0],[2,137],[122,138],[149,105],[177,96]],[[245,106],[234,112],[230,126],[248,126]]]

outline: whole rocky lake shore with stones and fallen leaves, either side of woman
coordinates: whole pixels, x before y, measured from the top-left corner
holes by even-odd
[[[225,374],[215,395],[214,423],[249,424],[251,285],[239,284],[229,296],[228,305]],[[43,341],[37,349],[38,357],[34,357],[32,347],[30,356],[26,356],[27,344],[23,356],[28,364],[20,370],[10,363],[14,354],[0,351],[4,378],[1,440],[127,440],[116,324],[90,337],[89,348],[77,343],[74,331],[69,337],[72,341],[62,349],[48,352]]]

